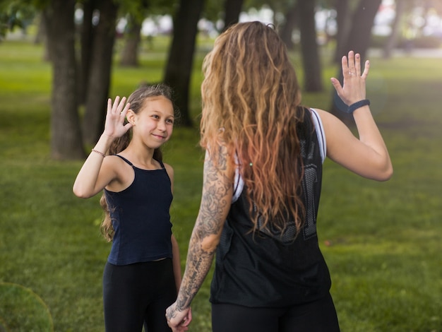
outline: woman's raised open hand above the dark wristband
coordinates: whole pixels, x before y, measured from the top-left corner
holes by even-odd
[[[370,62],[366,61],[361,73],[361,55],[348,52],[348,57],[342,57],[342,74],[344,83],[341,86],[336,78],[331,78],[338,96],[347,105],[364,100],[366,97],[365,81],[369,75]]]

